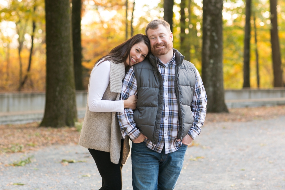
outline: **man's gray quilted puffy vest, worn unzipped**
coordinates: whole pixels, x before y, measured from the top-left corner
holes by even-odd
[[[191,103],[195,90],[196,69],[176,49],[175,53],[175,94],[178,103],[180,129],[178,138],[183,139],[193,125]],[[163,78],[158,70],[157,59],[152,54],[148,59],[133,65],[138,86],[138,102],[134,121],[142,134],[153,144],[158,136],[163,110]]]

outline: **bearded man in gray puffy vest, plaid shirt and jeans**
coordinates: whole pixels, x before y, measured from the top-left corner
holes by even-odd
[[[145,33],[152,54],[130,68],[122,88],[123,100],[138,95],[137,109],[118,113],[118,120],[123,138],[133,141],[133,189],[168,190],[176,185],[187,146],[201,132],[207,97],[195,66],[173,49],[170,25],[156,19]]]

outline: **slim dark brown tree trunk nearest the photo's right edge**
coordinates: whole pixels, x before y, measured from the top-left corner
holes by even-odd
[[[270,13],[271,13],[271,47],[272,47],[272,62],[274,73],[274,87],[283,86],[282,70],[281,70],[281,56],[279,37],[277,29],[277,0],[270,0]]]

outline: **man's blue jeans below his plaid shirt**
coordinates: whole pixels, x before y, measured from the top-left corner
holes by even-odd
[[[165,154],[142,143],[132,143],[133,190],[173,190],[180,175],[187,146]]]

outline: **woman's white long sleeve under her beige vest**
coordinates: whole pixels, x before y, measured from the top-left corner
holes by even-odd
[[[110,61],[96,64],[91,71],[88,106],[90,111],[95,112],[123,112],[123,100],[102,100],[102,97],[110,83]]]

